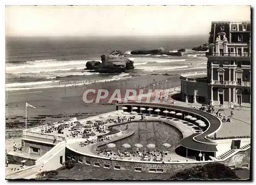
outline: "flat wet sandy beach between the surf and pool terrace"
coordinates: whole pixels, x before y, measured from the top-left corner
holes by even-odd
[[[115,105],[101,105],[101,104],[86,104],[82,100],[83,92],[88,88],[102,88],[114,91],[115,89],[135,88],[140,85],[141,89],[144,84],[171,80],[170,87],[180,86],[180,74],[191,71],[200,70],[179,70],[174,71],[177,75],[144,75],[133,76],[126,83],[125,80],[111,81],[104,83],[95,83],[88,86],[66,87],[66,88],[43,88],[31,89],[23,91],[6,91],[6,126],[8,128],[25,127],[25,103],[36,107],[28,107],[27,118],[30,121],[30,126],[45,124],[48,122],[55,122],[71,117],[87,118],[96,114],[114,111]],[[132,74],[131,74],[132,75]],[[169,84],[166,85],[169,87]],[[145,87],[148,88],[147,86]],[[161,85],[159,85],[161,88]],[[64,118],[64,119],[65,119]]]

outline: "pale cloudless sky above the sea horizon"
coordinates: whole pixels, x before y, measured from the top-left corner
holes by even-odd
[[[6,36],[208,35],[220,20],[250,20],[250,6],[7,6]]]

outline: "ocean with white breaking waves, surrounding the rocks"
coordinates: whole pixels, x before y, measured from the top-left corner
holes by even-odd
[[[175,73],[206,68],[205,52],[191,49],[208,36],[170,37],[6,37],[6,90],[65,87],[129,79],[132,75]],[[132,50],[167,51],[185,48],[182,56],[131,55]],[[86,62],[101,61],[104,53],[119,50],[134,61],[132,74],[99,74],[86,70]]]

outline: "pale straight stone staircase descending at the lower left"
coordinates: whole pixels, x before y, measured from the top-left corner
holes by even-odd
[[[45,155],[43,155],[41,158],[36,160],[36,167],[33,168],[33,171],[36,173],[40,173],[44,171],[44,166],[48,161],[58,154],[63,148],[65,148],[65,142],[58,143],[55,147],[53,147],[49,152],[47,152]]]

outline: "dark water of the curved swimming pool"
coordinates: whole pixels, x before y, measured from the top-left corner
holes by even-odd
[[[128,124],[123,124],[119,126],[114,126],[113,128],[118,130],[126,130],[126,125],[128,125],[127,130],[135,131],[130,137],[126,137],[123,140],[114,142],[116,147],[114,150],[119,151],[136,151],[134,144],[143,145],[142,150],[151,151],[172,151],[179,144],[182,139],[182,133],[175,127],[167,125],[160,122],[133,122]],[[124,148],[123,144],[131,145],[131,148]],[[168,143],[170,147],[164,147],[162,144]],[[156,148],[148,149],[146,146],[148,144],[155,144]]]

